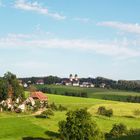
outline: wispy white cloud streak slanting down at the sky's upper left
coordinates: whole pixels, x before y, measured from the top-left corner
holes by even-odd
[[[62,16],[59,13],[50,12],[48,8],[44,8],[37,1],[27,2],[25,0],[17,0],[15,2],[15,8],[25,10],[25,11],[37,12],[37,13],[44,14],[58,20],[63,20],[66,18],[65,16]]]

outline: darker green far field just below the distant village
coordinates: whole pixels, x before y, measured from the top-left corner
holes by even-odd
[[[102,88],[81,88],[73,86],[60,86],[60,85],[38,85],[38,88],[47,87],[51,89],[52,93],[64,94],[65,92],[85,92],[88,98],[107,99],[114,101],[126,101],[128,96],[140,96],[137,92],[120,91],[114,89],[102,89]]]

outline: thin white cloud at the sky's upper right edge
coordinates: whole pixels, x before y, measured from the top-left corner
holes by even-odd
[[[115,22],[115,21],[106,21],[106,22],[100,22],[97,25],[116,28],[124,32],[140,34],[140,25],[138,23],[130,24],[130,23]]]

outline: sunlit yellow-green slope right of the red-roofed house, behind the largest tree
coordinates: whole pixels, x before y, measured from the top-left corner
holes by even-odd
[[[140,128],[140,116],[134,115],[134,110],[140,109],[140,104],[123,103],[117,101],[107,101],[91,98],[67,97],[61,95],[48,95],[50,101],[57,104],[65,104],[69,109],[88,107],[88,111],[93,115],[103,131],[109,131],[114,123],[125,123],[128,128]],[[112,108],[114,117],[107,118],[96,114],[98,106]],[[104,127],[106,126],[106,127]]]

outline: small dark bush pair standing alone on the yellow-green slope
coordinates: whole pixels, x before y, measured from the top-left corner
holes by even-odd
[[[98,108],[97,114],[104,115],[107,117],[113,116],[113,110],[112,109],[106,109],[104,106],[100,106]]]

